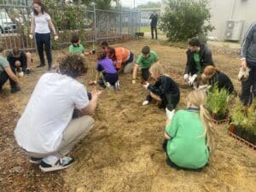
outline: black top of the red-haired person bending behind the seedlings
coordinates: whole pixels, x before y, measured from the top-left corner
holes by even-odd
[[[211,84],[212,87],[217,84],[218,90],[225,89],[228,93],[232,93],[234,90],[234,86],[232,81],[225,73],[215,73],[211,79],[208,80],[208,84]]]

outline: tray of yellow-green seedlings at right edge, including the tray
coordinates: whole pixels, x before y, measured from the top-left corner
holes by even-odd
[[[250,107],[243,106],[239,98],[230,110],[230,135],[250,143],[256,148],[256,99]]]

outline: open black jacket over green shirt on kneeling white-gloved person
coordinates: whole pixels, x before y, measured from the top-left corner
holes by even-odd
[[[212,51],[207,47],[206,44],[201,44],[200,51],[199,51],[199,57],[200,57],[200,64],[201,64],[201,71],[198,71],[196,68],[196,63],[194,60],[194,51],[190,51],[189,49],[187,50],[187,64],[185,68],[184,74],[189,74],[191,75],[196,74],[196,73],[202,73],[204,68],[207,67],[207,65],[212,65],[214,66],[214,63],[212,61]]]

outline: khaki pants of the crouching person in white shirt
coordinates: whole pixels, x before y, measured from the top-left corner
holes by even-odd
[[[26,154],[36,158],[44,158],[49,155],[55,155],[58,158],[62,158],[71,151],[76,143],[79,143],[79,141],[88,134],[94,123],[95,120],[88,115],[84,115],[78,119],[72,119],[67,125],[67,128],[63,131],[61,144],[55,152],[49,154],[26,152]]]

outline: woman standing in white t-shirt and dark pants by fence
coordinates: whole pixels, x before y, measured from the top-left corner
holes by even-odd
[[[40,65],[37,67],[44,67],[44,49],[48,61],[48,70],[52,66],[52,55],[51,55],[51,43],[50,43],[50,29],[55,34],[55,40],[58,39],[58,35],[55,31],[55,26],[53,25],[50,16],[45,12],[44,4],[40,0],[33,0],[33,12],[32,12],[32,22],[29,38],[35,37],[38,55],[40,58]],[[50,28],[50,29],[49,29]]]

